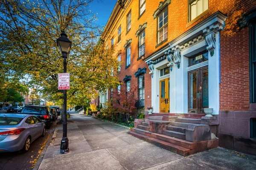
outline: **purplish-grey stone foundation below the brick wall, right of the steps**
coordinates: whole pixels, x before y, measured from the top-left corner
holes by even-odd
[[[250,106],[250,108],[252,108]],[[256,155],[256,139],[250,138],[250,119],[256,111],[220,111],[217,137],[219,145]]]

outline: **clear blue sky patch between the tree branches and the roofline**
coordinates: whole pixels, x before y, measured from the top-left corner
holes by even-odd
[[[113,8],[116,5],[117,0],[94,0],[90,3],[90,10],[98,17],[97,24],[105,26],[108,22]]]

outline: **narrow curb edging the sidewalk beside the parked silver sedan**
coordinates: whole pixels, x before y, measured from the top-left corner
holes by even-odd
[[[57,119],[57,121],[56,121],[56,126],[57,126],[57,123],[61,120],[60,117],[61,117],[61,116],[59,116],[58,119]],[[53,133],[51,132],[50,137],[49,137],[48,141],[46,142],[46,144],[45,144],[45,146],[44,146],[44,149],[42,150],[42,153],[40,154],[40,156],[39,156],[39,158],[38,158],[38,161],[36,162],[36,164],[35,164],[33,170],[38,170],[38,169],[39,169],[39,167],[40,167],[40,165],[41,165],[41,163],[42,163],[42,161],[43,161],[43,159],[44,159],[44,154],[45,154],[45,152],[46,152],[48,146],[50,146],[52,139],[53,139],[53,138],[54,138],[54,139],[56,138],[57,131],[58,131],[58,129],[56,129],[56,126],[54,127],[54,128],[55,128],[54,132],[53,132],[53,130],[52,130]]]

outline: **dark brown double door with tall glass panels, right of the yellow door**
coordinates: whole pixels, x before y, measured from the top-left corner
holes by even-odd
[[[208,66],[188,72],[189,113],[204,113],[209,107]]]

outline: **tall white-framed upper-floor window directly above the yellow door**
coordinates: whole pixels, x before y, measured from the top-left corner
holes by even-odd
[[[168,37],[168,8],[158,16],[158,43]]]

